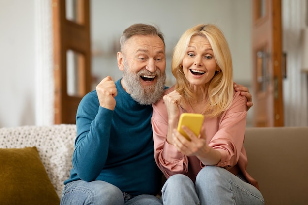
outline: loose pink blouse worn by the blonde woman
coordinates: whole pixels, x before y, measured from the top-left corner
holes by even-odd
[[[166,90],[166,94],[173,88]],[[219,117],[204,118],[207,143],[212,148],[220,151],[221,160],[217,164],[231,173],[237,175],[243,173],[246,180],[258,187],[257,181],[246,171],[247,155],[243,146],[246,127],[247,99],[234,92],[231,107]],[[153,104],[152,127],[155,149],[155,161],[166,178],[174,174],[184,174],[192,181],[199,171],[205,166],[195,156],[187,157],[179,152],[173,145],[167,143],[168,114],[166,106],[161,99]],[[183,109],[180,107],[180,114]]]

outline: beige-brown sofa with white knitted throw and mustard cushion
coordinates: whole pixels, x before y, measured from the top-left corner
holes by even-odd
[[[0,128],[0,204],[59,205],[76,125]],[[266,205],[308,205],[308,127],[246,128],[247,170]]]

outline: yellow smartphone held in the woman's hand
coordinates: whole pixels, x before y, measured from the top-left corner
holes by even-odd
[[[188,140],[190,138],[182,129],[182,125],[188,127],[196,136],[199,136],[204,116],[198,113],[182,113],[178,123],[178,131]]]

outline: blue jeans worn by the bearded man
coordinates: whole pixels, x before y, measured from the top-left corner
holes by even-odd
[[[162,205],[162,202],[153,195],[122,193],[105,181],[78,180],[65,185],[60,205]]]

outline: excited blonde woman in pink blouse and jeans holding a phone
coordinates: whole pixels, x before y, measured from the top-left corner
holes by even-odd
[[[243,146],[246,97],[233,88],[227,41],[215,25],[188,29],[172,58],[176,84],[153,104],[155,160],[167,178],[165,205],[263,205],[257,181],[246,171]],[[183,127],[182,113],[200,113],[199,136]]]

